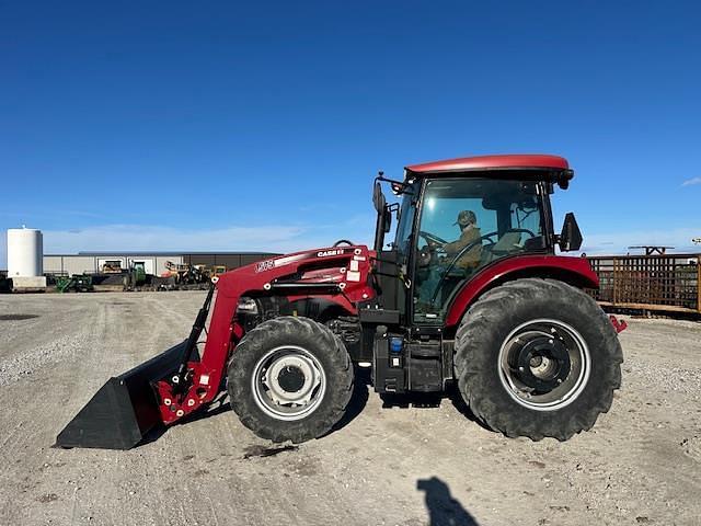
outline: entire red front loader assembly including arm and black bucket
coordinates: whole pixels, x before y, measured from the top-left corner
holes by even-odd
[[[333,247],[274,258],[215,276],[188,338],[110,378],[58,434],[56,446],[129,449],[153,427],[197,411],[219,395],[228,358],[245,334],[237,316],[241,298],[277,296],[288,302],[324,298],[355,315],[357,302],[376,296],[369,285],[372,256],[364,245]],[[207,332],[207,339],[200,354],[197,345],[203,332]]]

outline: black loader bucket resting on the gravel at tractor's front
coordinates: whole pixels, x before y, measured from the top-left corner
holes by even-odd
[[[56,437],[56,447],[130,449],[161,425],[151,382],[176,370],[187,341],[112,377]]]

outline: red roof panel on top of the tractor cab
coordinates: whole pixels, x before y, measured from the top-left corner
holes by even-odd
[[[570,171],[567,160],[558,156],[508,155],[460,157],[445,161],[426,162],[406,167],[406,174],[440,174],[491,170],[543,170],[547,172]]]

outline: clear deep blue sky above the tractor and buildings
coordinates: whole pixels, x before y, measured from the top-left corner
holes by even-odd
[[[1,2],[0,229],[371,239],[378,169],[551,152],[591,252],[701,236],[694,2]],[[5,265],[4,240],[0,267]]]

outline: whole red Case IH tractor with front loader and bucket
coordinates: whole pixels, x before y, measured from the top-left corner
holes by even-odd
[[[381,395],[457,384],[474,415],[508,436],[589,430],[620,387],[623,357],[583,291],[598,287],[587,260],[555,255],[582,244],[573,214],[553,230],[550,194],[572,176],[553,156],[417,164],[402,181],[380,173],[374,248],[342,240],[215,276],[189,338],[108,380],[57,445],[127,449],[225,389],[256,435],[309,441],[344,415],[355,366],[371,368]],[[381,183],[401,204],[387,204]]]

